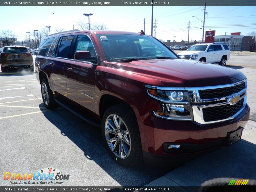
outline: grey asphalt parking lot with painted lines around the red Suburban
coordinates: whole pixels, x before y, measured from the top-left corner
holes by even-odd
[[[34,73],[0,72],[0,173],[34,173],[53,167],[70,175],[55,186],[199,186],[219,177],[255,179],[256,68],[229,67],[242,71],[248,82],[251,116],[242,140],[174,170],[143,164],[119,166],[107,153],[100,129],[62,107],[44,107]],[[1,178],[0,186],[28,184]]]

